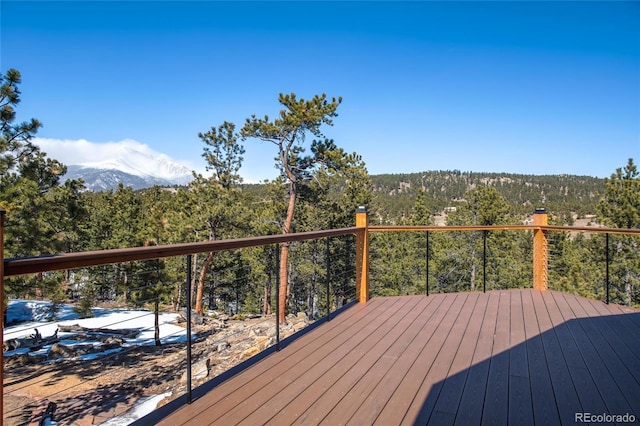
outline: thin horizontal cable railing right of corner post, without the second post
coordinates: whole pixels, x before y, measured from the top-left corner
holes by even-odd
[[[640,306],[640,229],[485,225],[368,231],[372,295],[530,287],[532,232],[542,231],[547,288]]]

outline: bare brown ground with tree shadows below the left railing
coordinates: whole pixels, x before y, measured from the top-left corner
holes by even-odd
[[[238,321],[225,330],[200,326],[192,346],[193,387],[231,368],[272,344],[271,318]],[[297,321],[282,330],[282,337],[308,324]],[[38,424],[47,405],[56,404],[60,425],[99,424],[129,410],[141,397],[186,393],[184,343],[160,347],[138,346],[94,361],[25,362],[5,359],[4,424]],[[208,364],[198,374],[197,364]],[[204,367],[203,367],[204,368]],[[166,403],[167,400],[161,402]]]

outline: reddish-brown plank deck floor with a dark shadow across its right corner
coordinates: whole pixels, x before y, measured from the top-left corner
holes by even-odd
[[[576,413],[640,419],[640,312],[509,290],[355,305],[161,424],[552,425]]]

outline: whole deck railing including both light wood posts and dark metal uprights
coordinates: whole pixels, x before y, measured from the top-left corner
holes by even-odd
[[[461,288],[455,287],[454,291],[464,290],[479,290],[482,287],[483,291],[504,288],[500,287],[500,281],[491,281],[491,274],[489,273],[491,268],[498,268],[496,266],[499,259],[495,259],[495,256],[491,255],[493,236],[500,233],[515,233],[514,235],[526,234],[525,240],[528,241],[524,252],[531,253],[531,262],[529,263],[530,270],[522,272],[525,276],[525,280],[528,281],[527,285],[533,286],[535,289],[544,291],[548,288],[560,289],[564,291],[574,291],[580,293],[581,289],[570,287],[572,283],[571,277],[567,279],[567,265],[563,264],[561,259],[567,250],[570,249],[570,242],[576,238],[590,238],[589,246],[590,252],[595,252],[594,261],[599,262],[601,267],[598,269],[597,277],[595,279],[595,287],[598,288],[598,296],[602,295],[605,302],[609,303],[610,300],[620,303],[625,302],[624,298],[621,299],[618,293],[612,296],[610,281],[611,281],[611,267],[617,265],[616,262],[624,262],[624,267],[627,271],[627,282],[624,284],[622,293],[628,295],[629,283],[631,286],[635,286],[635,290],[639,286],[637,280],[639,278],[640,262],[638,261],[638,255],[634,257],[634,253],[638,253],[638,243],[640,242],[640,230],[639,229],[617,229],[617,228],[595,228],[595,227],[562,227],[551,226],[547,224],[546,212],[537,211],[534,215],[534,222],[532,225],[499,225],[499,226],[371,226],[369,224],[369,218],[366,209],[360,208],[356,213],[356,226],[351,228],[312,231],[303,233],[294,233],[286,235],[269,235],[262,237],[251,238],[239,238],[232,240],[220,240],[220,241],[207,241],[200,243],[184,243],[173,244],[166,246],[150,246],[150,247],[138,247],[127,249],[115,249],[115,250],[103,250],[93,252],[82,253],[64,253],[56,255],[37,256],[32,258],[21,259],[4,259],[3,252],[3,236],[4,236],[4,218],[0,215],[0,283],[4,283],[5,277],[13,277],[24,274],[40,274],[51,271],[72,270],[78,268],[97,267],[101,265],[120,264],[127,262],[141,262],[156,259],[165,258],[178,258],[184,257],[186,267],[185,271],[185,286],[184,291],[186,295],[184,300],[192,300],[192,296],[188,293],[190,288],[192,268],[190,264],[192,262],[192,256],[197,253],[208,252],[228,252],[233,250],[248,249],[251,247],[265,247],[265,246],[277,246],[279,244],[289,243],[304,243],[323,240],[326,242],[326,254],[319,256],[319,262],[326,262],[326,273],[324,275],[324,283],[327,286],[331,286],[331,281],[335,281],[336,277],[332,277],[331,259],[329,254],[329,239],[333,237],[346,237],[355,236],[355,244],[346,244],[345,253],[349,254],[348,259],[343,259],[342,262],[345,265],[351,264],[352,269],[350,272],[342,272],[341,280],[344,279],[343,291],[341,296],[338,296],[334,291],[330,294],[329,288],[327,288],[325,295],[327,297],[325,302],[326,315],[329,317],[331,309],[339,308],[345,302],[349,300],[356,300],[358,302],[366,302],[371,295],[380,294],[381,287],[375,284],[380,281],[377,275],[380,275],[380,271],[385,269],[384,264],[381,264],[380,256],[376,257],[376,253],[380,252],[380,247],[376,245],[380,243],[380,238],[384,238],[384,235],[401,233],[403,235],[419,236],[421,243],[416,244],[413,247],[422,247],[422,269],[416,268],[416,274],[414,278],[416,282],[422,280],[424,284],[424,293],[429,294],[435,291],[448,291],[443,288],[443,285],[447,283],[447,280],[443,278],[443,274],[440,273],[439,268],[442,265],[449,262],[451,259],[460,257],[461,253],[465,253],[468,247],[473,253],[467,253],[465,256],[469,256],[470,264],[473,264],[474,276],[470,287]],[[436,236],[443,234],[460,234],[460,235],[473,235],[474,237],[464,244],[464,247],[460,247],[457,250],[453,250],[450,254],[442,259],[435,259],[434,250],[437,244],[444,244],[444,240],[438,241]],[[617,240],[614,240],[616,236],[619,236]],[[350,241],[350,240],[349,240]],[[569,241],[569,243],[567,242]],[[477,250],[476,250],[477,248]],[[310,253],[316,253],[320,250],[318,247],[309,248]],[[273,250],[277,253],[278,250]],[[301,249],[301,252],[303,250]],[[580,256],[582,252],[575,251],[573,255]],[[628,254],[631,253],[631,257]],[[413,252],[417,256],[416,252]],[[622,255],[625,255],[624,259]],[[447,257],[448,256],[448,257]],[[418,256],[419,257],[419,256]],[[320,260],[321,259],[321,260]],[[580,261],[580,258],[577,258]],[[629,260],[631,259],[631,260]],[[277,261],[277,259],[274,259]],[[316,262],[317,264],[318,262]],[[451,262],[449,262],[451,263]],[[566,262],[565,262],[566,263]],[[458,263],[451,263],[454,268],[459,266]],[[492,265],[496,264],[496,265]],[[528,268],[529,268],[528,267]],[[275,268],[277,270],[277,268]],[[348,268],[347,268],[348,269]],[[351,273],[353,272],[353,275]],[[619,272],[619,271],[618,271]],[[569,273],[573,273],[569,271]],[[423,274],[422,278],[418,278],[418,275]],[[274,274],[273,278],[277,279],[278,274]],[[526,278],[526,277],[530,277]],[[463,278],[464,279],[464,278]],[[635,281],[634,281],[635,280]],[[323,284],[324,284],[323,283]],[[443,284],[444,283],[444,284]],[[344,291],[345,287],[351,287],[347,292]],[[418,285],[413,286],[416,288]],[[277,291],[278,285],[273,286]],[[337,287],[337,286],[336,286]],[[616,288],[619,288],[618,285]],[[508,288],[508,286],[507,286]],[[0,285],[0,296],[4,300],[4,295],[1,293],[4,289],[4,284]],[[593,293],[593,289],[585,290],[586,293]],[[349,296],[345,296],[345,294]],[[319,293],[320,294],[320,293]],[[273,297],[273,294],[272,294]],[[275,298],[277,300],[277,293]],[[333,300],[331,299],[333,297]],[[340,302],[338,298],[342,298]],[[186,303],[187,316],[191,316],[191,303]],[[278,303],[274,304],[277,309]],[[331,308],[332,307],[332,308]],[[4,309],[4,308],[3,308]],[[4,313],[4,312],[3,312]],[[275,318],[278,316],[276,315]],[[191,384],[191,353],[192,346],[191,341],[191,321],[186,322],[187,327],[187,343],[186,354],[187,358],[187,392],[183,395],[183,402],[190,402],[192,400],[192,384]],[[272,350],[278,350],[280,346],[280,332],[279,324],[275,321],[276,336],[275,345]],[[4,333],[4,327],[2,328]],[[4,365],[4,363],[3,363]],[[2,383],[4,386],[4,369],[2,376]],[[180,398],[178,398],[180,399]],[[4,406],[3,406],[4,407]],[[4,410],[3,410],[4,413]],[[4,416],[3,416],[4,418]]]

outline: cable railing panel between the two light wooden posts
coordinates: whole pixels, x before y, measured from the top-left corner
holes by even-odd
[[[372,230],[374,231],[374,230]],[[530,234],[530,233],[529,233]],[[531,235],[520,231],[372,232],[373,295],[531,287]]]

